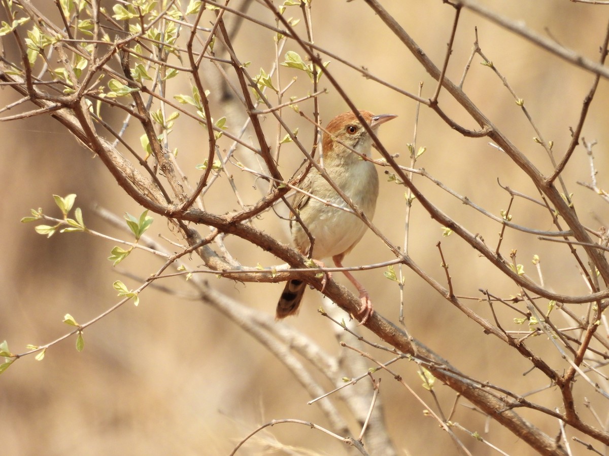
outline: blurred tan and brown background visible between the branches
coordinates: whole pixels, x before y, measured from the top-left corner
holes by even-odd
[[[34,3],[41,4],[40,1]],[[563,46],[597,60],[609,18],[607,8],[555,0],[480,3],[507,18],[524,21],[541,35],[547,34],[544,31],[547,27],[551,36]],[[439,0],[393,0],[383,4],[426,54],[440,65],[446,52],[453,9]],[[416,92],[418,82],[424,81],[423,94],[431,96],[435,89],[431,78],[364,2],[315,1],[312,12],[316,44],[354,64],[367,67],[373,74],[407,91]],[[289,10],[286,15],[292,13],[298,16],[298,9]],[[48,14],[54,17],[51,9]],[[250,14],[273,23],[270,13],[258,4],[252,5]],[[476,26],[483,52],[507,77],[518,97],[524,99],[544,138],[554,141],[554,151],[560,158],[570,140],[568,128],[575,126],[579,118],[592,75],[464,10],[447,73],[453,81],[460,80],[471,52]],[[299,27],[303,32],[304,29]],[[243,25],[235,45],[243,60],[246,56],[247,60],[252,60],[252,74],[256,74],[256,68],[260,66],[267,69],[270,66],[274,52],[271,37],[272,33],[261,32],[258,26]],[[12,46],[10,40],[5,40],[4,46]],[[285,50],[298,49],[295,44],[288,43]],[[412,142],[415,103],[366,80],[338,62],[331,63],[329,69],[339,78],[357,106],[379,114],[390,112],[400,116],[381,128],[380,137],[391,153],[400,154],[400,163],[408,165],[406,143]],[[284,78],[288,80],[295,73],[286,71],[285,74]],[[298,84],[302,83],[301,86],[297,84],[294,89],[294,95],[298,96],[308,90],[307,81],[303,76],[300,78],[302,81]],[[327,80],[322,78],[320,86],[329,89],[329,94],[320,98],[320,110],[326,123],[336,114],[346,111],[347,105]],[[481,66],[477,57],[464,87],[485,114],[538,167],[544,171],[551,169],[543,148],[533,142],[532,137],[536,134],[521,110],[501,81],[487,67]],[[598,141],[594,151],[600,187],[609,178],[607,95],[607,81],[601,81],[583,132],[586,139]],[[15,99],[9,89],[0,91],[3,106]],[[222,112],[217,98],[215,102],[214,111]],[[446,94],[440,95],[442,103],[457,121],[466,119]],[[311,103],[300,106],[311,114]],[[114,121],[121,122],[121,116],[117,112]],[[289,109],[286,116],[291,125],[300,125],[299,138],[310,146],[311,128]],[[176,130],[172,141],[174,147],[180,147],[178,157],[183,168],[197,176],[192,170],[206,156],[206,151],[197,150],[200,144],[206,145],[206,132],[202,128],[192,128],[195,124],[184,120],[183,130]],[[275,123],[270,116],[267,121],[269,125],[266,128],[270,132],[275,131]],[[469,128],[475,127],[468,119],[463,123]],[[137,145],[141,133],[136,128],[132,130],[128,131],[127,138]],[[71,313],[80,322],[90,320],[112,306],[117,301],[111,286],[114,280],[123,280],[128,287],[136,288],[138,282],[125,277],[121,271],[128,270],[146,277],[161,263],[156,258],[136,252],[113,269],[110,261],[105,259],[113,243],[82,233],[55,235],[47,239],[34,232],[33,224],[20,224],[19,219],[29,215],[30,208],[43,207],[49,215],[58,216],[51,195],[77,193],[76,206],[83,209],[85,223],[89,227],[127,238],[120,230],[94,215],[91,206],[100,204],[119,216],[124,212],[139,215],[142,209],[124,195],[100,161],[83,150],[52,119],[35,117],[0,123],[0,137],[0,176],[5,188],[0,210],[4,239],[3,260],[0,261],[3,291],[0,297],[0,341],[7,340],[13,352],[23,353],[26,344],[45,344],[68,332],[70,328],[62,323],[64,314]],[[446,185],[495,215],[506,209],[509,202],[508,195],[498,187],[498,178],[503,185],[537,196],[524,173],[507,157],[488,146],[487,140],[459,136],[424,107],[418,119],[417,146],[427,148],[418,166],[426,168]],[[290,157],[290,153],[294,156]],[[290,175],[299,162],[296,148],[284,146],[280,162],[284,175]],[[588,158],[582,147],[577,148],[563,177],[569,191],[574,192],[574,201],[583,221],[593,229],[606,224],[605,204],[593,192],[576,184],[576,181],[590,181]],[[415,181],[442,210],[455,216],[471,232],[481,233],[490,246],[496,244],[497,224],[462,206],[429,182],[421,178],[415,178]],[[250,202],[259,195],[251,188],[244,187],[242,191]],[[206,201],[210,210],[224,213],[237,208],[234,198],[225,201],[220,199],[220,195],[222,193],[219,192],[214,197],[217,199]],[[381,195],[374,221],[391,241],[399,245],[403,245],[404,240],[403,195],[403,187],[386,182],[381,174]],[[512,213],[516,223],[552,229],[547,215],[532,204],[517,201]],[[272,212],[256,221],[257,227],[285,242],[288,241],[286,225]],[[170,234],[166,223],[158,216],[155,216],[150,232],[154,236],[158,232]],[[412,258],[444,284],[444,272],[439,266],[440,258],[435,247],[438,240],[442,241],[455,291],[459,295],[480,297],[479,288],[487,288],[504,297],[518,292],[457,237],[442,238],[441,227],[432,222],[416,202],[410,220],[409,240]],[[246,266],[255,266],[258,262],[264,266],[279,263],[271,255],[241,241],[227,240],[227,244],[235,249],[238,260]],[[169,244],[167,246],[171,248]],[[565,294],[585,292],[566,248],[541,243],[534,236],[508,233],[503,244],[506,256],[512,248],[518,249],[519,263],[523,263],[533,277],[536,275],[530,258],[533,254],[540,255],[544,279],[554,291]],[[368,264],[391,258],[382,243],[368,233],[345,263]],[[398,288],[395,283],[387,281],[382,272],[382,269],[360,272],[357,277],[367,286],[379,313],[397,322]],[[479,326],[452,308],[415,274],[407,270],[404,274],[406,327],[414,337],[478,379],[508,385],[518,393],[546,384],[535,372],[523,376],[530,367],[524,359],[498,340],[485,336]],[[339,280],[343,281],[343,277]],[[244,285],[213,276],[209,281],[233,299],[269,314],[274,313],[276,298],[281,292],[278,284]],[[177,278],[164,285],[185,289]],[[316,311],[320,303],[320,295],[308,291],[300,316],[289,319],[286,324],[295,326],[329,353],[336,354],[341,348],[329,329],[328,321]],[[323,304],[332,306],[328,302]],[[485,303],[474,302],[471,306],[483,316],[490,317]],[[512,319],[510,313],[500,314],[507,322]],[[370,336],[366,330],[362,332]],[[88,328],[84,336],[85,350],[82,353],[75,350],[72,337],[50,348],[43,361],[27,356],[2,374],[2,454],[223,455],[259,424],[272,419],[298,418],[327,425],[316,406],[306,406],[311,398],[280,362],[217,311],[199,302],[178,299],[149,288],[141,295],[138,308],[128,303]],[[376,341],[375,337],[370,339]],[[557,359],[547,341],[530,343],[540,350],[545,347],[550,360]],[[378,356],[387,359],[382,354]],[[506,365],[509,365],[507,372]],[[416,365],[404,362],[395,369],[431,402],[420,387]],[[454,454],[454,446],[445,432],[431,418],[423,417],[420,404],[390,376],[379,376],[384,379],[381,398],[384,398],[388,427],[398,451],[409,455]],[[327,387],[332,389],[329,384]],[[443,406],[449,410],[454,394],[440,385],[437,393]],[[544,402],[543,396],[536,398]],[[461,402],[454,421],[472,431],[477,430],[509,454],[532,454],[529,447],[495,422],[490,423],[490,432],[484,434],[484,416],[471,412],[464,404],[465,401]],[[553,407],[558,404],[550,401],[545,405]],[[582,410],[582,413],[588,417],[588,412]],[[553,420],[540,419],[538,414],[526,411],[523,411],[523,416],[545,432],[555,432]],[[345,453],[342,443],[304,426],[284,424],[273,427],[269,432],[283,444],[309,449],[309,454]],[[354,426],[353,432],[359,432],[359,428]],[[465,434],[459,434],[459,437],[473,454],[493,454],[488,447]],[[574,451],[583,454],[584,449],[575,447]],[[239,454],[267,453],[252,442]],[[277,454],[291,453],[284,450]]]

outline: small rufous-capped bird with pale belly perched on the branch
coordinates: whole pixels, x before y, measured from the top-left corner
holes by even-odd
[[[381,123],[397,117],[395,114],[375,116],[369,111],[359,112],[375,134]],[[379,178],[375,165],[363,160],[339,143],[340,141],[360,154],[370,157],[372,145],[370,135],[351,111],[334,117],[328,123],[326,130],[329,134],[323,134],[323,168],[334,184],[371,219],[375,213],[376,197],[379,193]],[[334,206],[350,209],[347,202],[315,168],[311,168],[305,180],[301,182],[300,188],[324,201],[298,192],[292,202],[292,207],[298,212],[300,219],[314,238],[313,260],[323,268],[324,265],[319,260],[332,257],[337,268],[342,268],[343,258],[364,236],[366,225],[353,213],[325,204],[325,201],[328,201]],[[290,230],[294,244],[301,254],[308,255],[311,246],[309,237],[301,224],[294,219],[294,215],[290,214],[290,216],[292,217]],[[362,303],[359,314],[363,314],[362,323],[365,323],[373,313],[368,292],[350,272],[343,271],[343,273],[359,291],[359,299]],[[325,280],[326,277],[324,282]],[[306,283],[296,278],[286,283],[286,288],[277,304],[276,318],[283,319],[297,313],[305,288]]]

